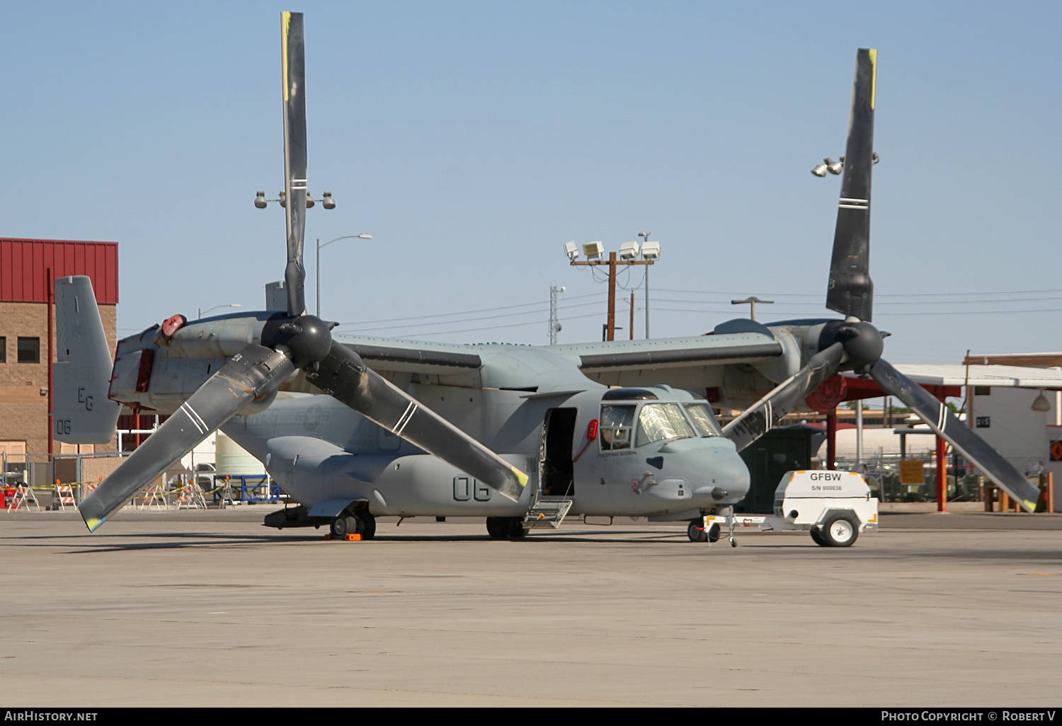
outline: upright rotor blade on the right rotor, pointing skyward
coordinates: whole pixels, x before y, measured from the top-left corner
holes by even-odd
[[[870,176],[874,165],[876,80],[877,51],[860,48],[826,292],[827,308],[860,321],[871,319],[874,302],[874,283],[870,279]]]

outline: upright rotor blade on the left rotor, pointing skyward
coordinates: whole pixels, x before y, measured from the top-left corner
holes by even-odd
[[[306,63],[303,14],[282,13],[284,176],[288,212],[288,315],[306,312],[303,237],[306,232]]]

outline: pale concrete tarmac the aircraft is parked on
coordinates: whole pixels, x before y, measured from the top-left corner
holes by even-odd
[[[685,523],[263,507],[0,514],[0,684],[29,706],[1062,704],[1062,517],[883,515],[850,549]]]

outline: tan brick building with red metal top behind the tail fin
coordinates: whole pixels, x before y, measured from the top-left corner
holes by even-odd
[[[55,344],[54,280],[88,275],[110,349],[117,343],[118,244],[0,239],[0,453],[78,453],[53,442],[49,356]],[[50,314],[51,313],[51,314]],[[51,330],[51,336],[49,331]],[[54,360],[54,355],[51,356]],[[92,451],[89,445],[81,453]],[[96,451],[114,451],[98,445]]]

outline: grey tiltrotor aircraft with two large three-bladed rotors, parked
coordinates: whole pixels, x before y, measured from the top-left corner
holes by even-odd
[[[875,51],[857,55],[826,298],[843,318],[736,319],[652,341],[446,345],[332,334],[335,324],[307,314],[303,16],[285,13],[282,31],[287,309],[175,315],[120,341],[112,371],[88,278],[56,282],[56,437],[110,440],[118,402],[170,414],[84,499],[90,531],[217,429],[299,503],[266,517],[277,528],[371,537],[377,516],[464,515],[518,537],[529,519],[563,517],[561,500],[570,514],[692,528],[732,515],[749,489],[738,451],[789,411],[810,410],[805,398],[840,370],[873,377],[1034,505],[1021,473],[880,358],[868,272]],[[743,413],[720,428],[705,395]]]

